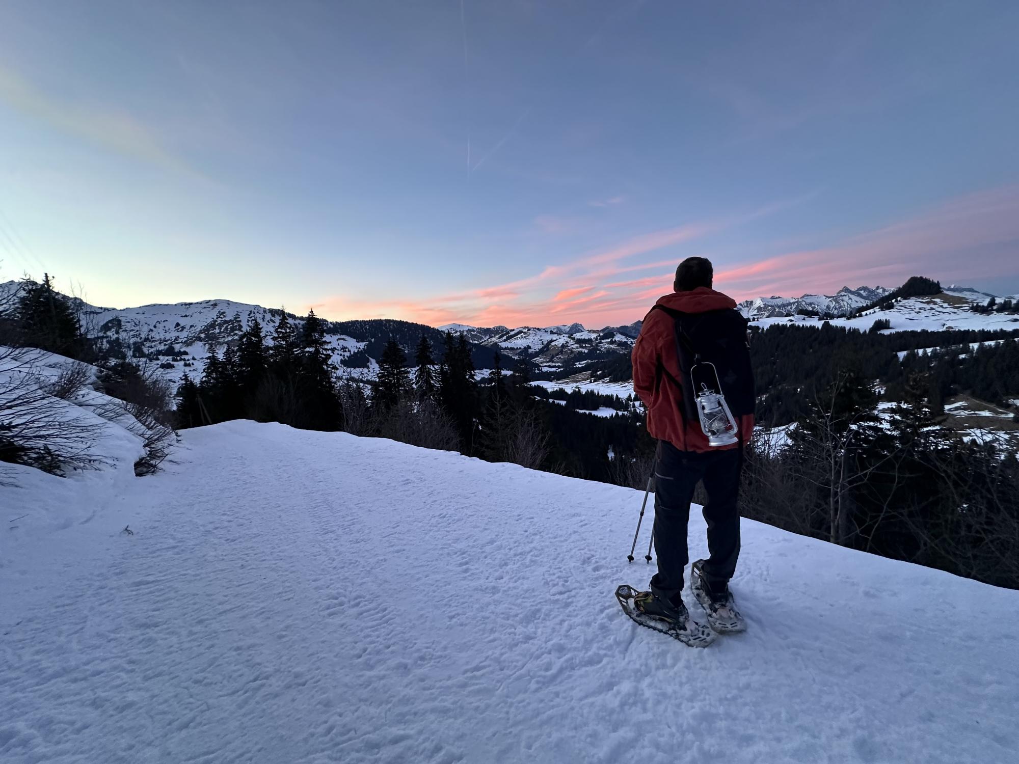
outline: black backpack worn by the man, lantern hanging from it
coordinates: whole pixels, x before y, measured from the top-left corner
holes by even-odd
[[[676,356],[680,360],[680,379],[665,375],[683,390],[683,414],[697,422],[690,370],[698,363],[714,364],[718,373],[721,393],[734,417],[754,413],[754,372],[750,366],[750,347],[747,344],[747,320],[739,311],[722,309],[706,313],[684,313],[656,305],[652,310],[668,314],[676,326]],[[703,370],[701,370],[703,371]],[[708,376],[706,380],[713,382]],[[705,381],[706,381],[705,380]],[[701,377],[697,378],[698,383]],[[713,387],[712,385],[709,385]]]

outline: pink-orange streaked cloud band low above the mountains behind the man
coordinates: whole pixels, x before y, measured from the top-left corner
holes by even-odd
[[[672,289],[678,260],[640,262],[639,256],[689,242],[784,206],[788,203],[720,222],[651,231],[503,284],[425,299],[334,298],[327,302],[323,313],[385,315],[433,326],[451,322],[548,325],[561,323],[564,316],[595,328],[631,323]],[[826,247],[797,249],[732,265],[716,260],[715,285],[742,299],[760,294],[832,292],[847,284],[895,286],[911,275],[927,275],[943,282],[967,281],[1019,272],[1017,255],[1019,186],[1012,186],[949,200],[901,222]],[[637,277],[620,280],[624,273]]]

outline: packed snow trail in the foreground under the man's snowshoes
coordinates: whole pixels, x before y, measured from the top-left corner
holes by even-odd
[[[5,764],[1016,760],[1019,592],[747,522],[749,631],[692,650],[612,596],[651,572],[637,491],[279,425],[182,438],[2,550]]]

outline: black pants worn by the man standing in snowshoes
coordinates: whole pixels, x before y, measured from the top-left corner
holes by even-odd
[[[654,551],[658,572],[651,589],[674,603],[683,590],[683,570],[690,561],[687,552],[687,525],[690,501],[701,481],[707,493],[704,520],[710,557],[704,563],[704,578],[710,586],[721,587],[736,572],[740,556],[740,513],[736,500],[740,489],[742,452],[694,453],[681,451],[671,443],[658,442],[654,469]]]

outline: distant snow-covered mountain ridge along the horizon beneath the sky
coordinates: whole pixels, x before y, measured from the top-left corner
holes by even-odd
[[[9,295],[19,282],[0,284],[0,310],[4,295]],[[804,294],[800,297],[757,297],[739,304],[739,310],[751,321],[768,323],[789,316],[813,315],[842,317],[890,294],[882,286],[843,287],[834,295]],[[967,303],[985,302],[991,296],[971,287],[948,286],[950,296],[965,297]],[[230,299],[204,299],[192,303],[154,304],[137,308],[101,308],[76,298],[69,298],[77,308],[87,333],[100,339],[105,346],[128,358],[159,359],[172,366],[167,376],[178,380],[184,371],[192,376],[201,374],[210,350],[221,352],[226,344],[235,342],[254,320],[258,320],[267,339],[282,311]],[[9,303],[9,301],[7,301]],[[950,306],[917,304],[914,310],[933,316],[958,311]],[[304,318],[287,314],[300,329]],[[910,319],[913,320],[913,319]],[[967,318],[967,320],[969,320]],[[342,373],[373,378],[378,359],[388,339],[396,339],[409,357],[422,334],[436,345],[441,354],[443,333],[463,333],[473,345],[472,357],[477,369],[492,367],[497,349],[509,358],[527,358],[546,372],[564,375],[587,364],[629,354],[640,334],[641,321],[622,326],[606,326],[590,330],[580,323],[546,327],[506,326],[476,327],[467,324],[445,324],[433,328],[393,319],[325,321],[327,341],[333,360]],[[183,365],[187,364],[185,368]]]

